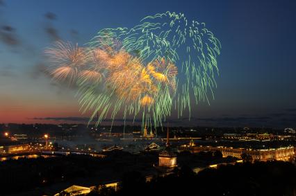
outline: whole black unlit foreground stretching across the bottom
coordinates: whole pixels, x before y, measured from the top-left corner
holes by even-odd
[[[229,159],[229,160],[228,160]],[[153,167],[158,154],[130,154],[108,152],[105,159],[90,156],[73,156],[19,159],[0,162],[0,195],[15,193],[42,193],[54,184],[65,184],[73,179],[82,185],[90,178],[122,181],[115,192],[110,188],[94,189],[90,195],[294,195],[296,194],[296,166],[283,161],[256,162],[205,169],[197,175],[192,165],[208,165],[211,161],[233,161],[222,158],[218,152],[178,154],[181,168],[167,177],[155,177],[146,182],[142,173],[156,171]],[[188,166],[191,166],[188,167]],[[157,176],[157,175],[156,175]],[[98,185],[94,182],[89,186]],[[69,185],[64,186],[67,188]],[[85,185],[86,186],[86,185]],[[61,189],[61,188],[60,188]],[[61,191],[60,189],[56,190]],[[40,195],[39,194],[39,195]],[[37,194],[38,195],[38,194]]]

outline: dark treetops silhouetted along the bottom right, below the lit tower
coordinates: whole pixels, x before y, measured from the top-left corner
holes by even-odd
[[[122,187],[94,190],[90,195],[296,195],[296,167],[283,161],[257,162],[202,170],[183,166],[174,175],[146,183],[139,172],[122,178]]]

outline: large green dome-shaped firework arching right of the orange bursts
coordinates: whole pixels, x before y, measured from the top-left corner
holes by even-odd
[[[122,39],[126,51],[137,51],[142,59],[148,61],[165,57],[179,67],[177,97],[175,101],[178,114],[192,107],[199,100],[209,103],[216,87],[215,75],[218,73],[217,55],[220,55],[220,42],[204,23],[189,21],[183,14],[165,12],[147,16],[131,29],[110,30],[111,35]],[[154,74],[159,80],[163,75]],[[193,105],[195,105],[193,103]]]

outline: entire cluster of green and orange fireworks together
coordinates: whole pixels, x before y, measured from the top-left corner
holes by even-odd
[[[183,14],[145,17],[133,28],[106,28],[79,48],[58,42],[47,49],[58,80],[75,81],[83,112],[142,118],[158,127],[172,109],[182,116],[216,87],[220,42],[205,24]],[[194,100],[192,103],[192,99]]]

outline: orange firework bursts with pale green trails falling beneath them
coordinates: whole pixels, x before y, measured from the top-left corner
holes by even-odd
[[[104,70],[105,78],[100,92],[96,90],[97,84],[78,82],[83,112],[94,108],[91,118],[99,112],[99,123],[108,112],[114,119],[122,109],[124,119],[140,115],[143,125],[160,125],[170,114],[172,104],[167,102],[172,102],[176,90],[176,66],[165,57],[147,64],[142,57],[127,52],[116,39],[105,32],[89,47],[95,57],[94,67]]]

